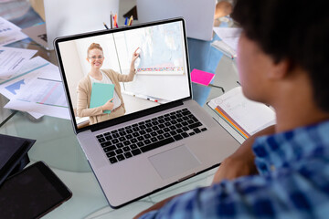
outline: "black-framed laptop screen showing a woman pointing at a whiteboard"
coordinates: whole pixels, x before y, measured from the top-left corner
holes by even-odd
[[[76,130],[191,97],[181,18],[64,36],[55,47]]]

